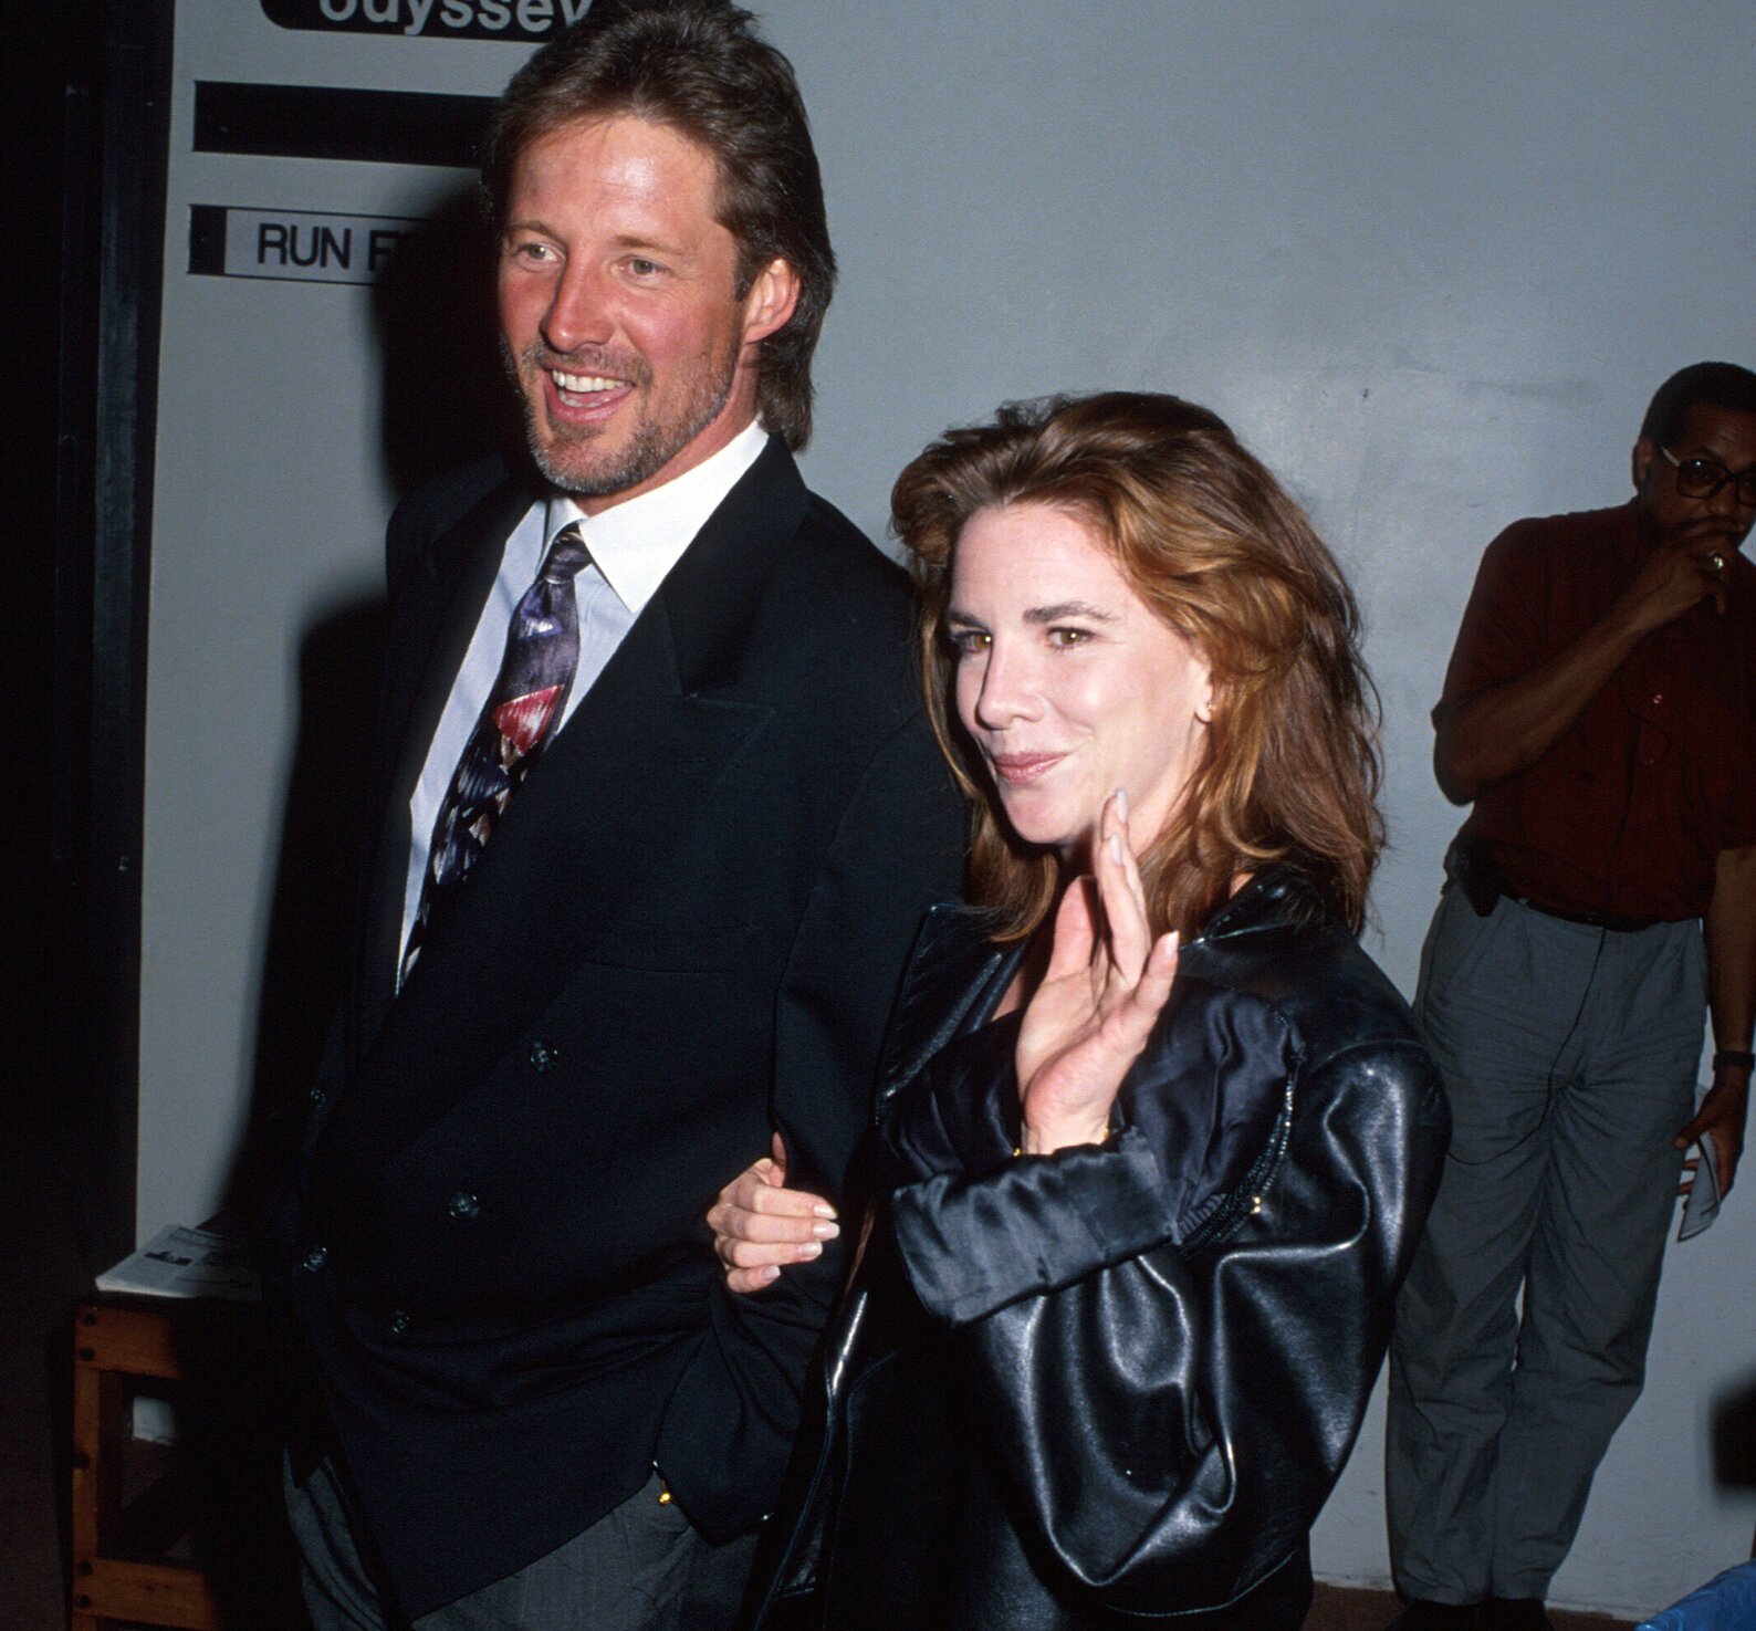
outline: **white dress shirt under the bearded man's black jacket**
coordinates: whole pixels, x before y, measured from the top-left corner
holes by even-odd
[[[752,423],[718,453],[650,493],[613,504],[597,516],[585,514],[565,493],[555,493],[532,504],[511,530],[500,555],[500,572],[481,609],[481,622],[476,623],[464,667],[451,683],[451,695],[439,716],[427,762],[409,797],[413,843],[402,895],[399,959],[409,943],[409,925],[420,906],[421,878],[432,851],[439,808],[481,718],[481,709],[488,706],[493,681],[500,674],[513,611],[525,590],[536,583],[537,567],[555,542],[555,534],[578,521],[592,560],[574,578],[574,602],[579,607],[579,667],[574,671],[551,736],[567,727],[579,699],[592,688],[604,664],[615,657],[622,637],[658,592],[666,574],[766,446],[767,434]]]

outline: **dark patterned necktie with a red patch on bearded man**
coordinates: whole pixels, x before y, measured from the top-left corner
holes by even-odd
[[[560,720],[579,667],[579,609],[572,579],[590,558],[578,521],[564,527],[543,557],[537,581],[513,607],[500,674],[434,822],[421,899],[397,973],[399,990],[421,955],[434,918],[476,866],[493,823],[513,802],[513,794],[530,774],[551,727]]]

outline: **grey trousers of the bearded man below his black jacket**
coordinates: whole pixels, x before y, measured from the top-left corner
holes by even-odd
[[[727,1631],[755,1556],[753,1534],[702,1540],[674,1501],[660,1505],[653,1473],[583,1534],[411,1624],[362,1561],[355,1503],[328,1461],[304,1487],[288,1471],[286,1515],[314,1631]]]

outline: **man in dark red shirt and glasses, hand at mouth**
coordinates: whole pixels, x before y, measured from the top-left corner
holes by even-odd
[[[1724,1194],[1744,1146],[1756,374],[1668,379],[1633,481],[1494,539],[1433,709],[1438,783],[1473,809],[1415,994],[1454,1131],[1391,1345],[1401,1631],[1549,1626],[1640,1392],[1682,1152],[1705,1134]]]

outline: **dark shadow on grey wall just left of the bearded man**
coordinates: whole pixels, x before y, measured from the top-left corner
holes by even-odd
[[[381,451],[397,499],[485,453],[522,455],[516,399],[499,360],[493,251],[474,186],[448,195],[402,239],[372,290],[372,314]],[[383,520],[372,518],[362,539],[374,562]],[[297,1150],[300,1108],[348,978],[383,646],[383,595],[320,609],[300,643],[249,1132],[227,1192],[228,1208],[246,1217]]]

